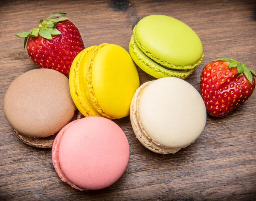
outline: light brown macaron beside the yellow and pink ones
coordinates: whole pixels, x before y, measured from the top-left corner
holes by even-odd
[[[9,86],[3,110],[15,134],[26,144],[50,148],[52,136],[73,118],[76,106],[66,76],[52,69],[34,69]]]

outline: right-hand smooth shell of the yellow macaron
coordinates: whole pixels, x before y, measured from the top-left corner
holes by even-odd
[[[87,87],[94,107],[109,119],[129,114],[131,99],[140,86],[137,68],[119,45],[102,44],[89,59]]]

